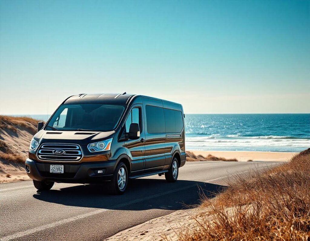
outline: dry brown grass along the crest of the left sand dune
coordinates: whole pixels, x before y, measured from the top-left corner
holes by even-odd
[[[39,121],[40,120],[36,120],[27,116],[13,117],[7,115],[0,115],[0,130],[8,129],[17,133],[18,127],[24,127],[30,130],[32,134],[35,134]]]

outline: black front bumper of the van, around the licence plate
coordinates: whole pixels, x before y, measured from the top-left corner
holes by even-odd
[[[64,165],[64,173],[50,173],[50,165]],[[28,176],[37,181],[53,181],[63,183],[100,183],[111,180],[116,160],[92,163],[42,163],[27,158],[25,162]],[[103,170],[97,174],[95,170]]]

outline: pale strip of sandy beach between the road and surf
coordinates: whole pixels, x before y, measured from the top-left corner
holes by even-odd
[[[216,157],[224,157],[227,159],[236,158],[239,161],[273,161],[273,162],[283,162],[288,161],[297,152],[264,152],[264,151],[197,151],[197,150],[187,150],[193,152],[195,155],[207,156],[211,154]]]

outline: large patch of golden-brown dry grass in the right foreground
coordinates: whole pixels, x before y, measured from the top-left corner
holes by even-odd
[[[207,213],[180,241],[310,240],[310,149],[270,170],[235,176],[201,206]]]

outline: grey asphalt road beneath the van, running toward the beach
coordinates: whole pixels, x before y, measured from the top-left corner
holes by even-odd
[[[274,162],[187,162],[179,179],[131,180],[112,196],[105,185],[55,184],[37,193],[32,181],[0,184],[0,240],[103,240],[117,232],[199,203],[227,184],[231,174],[274,166]]]

